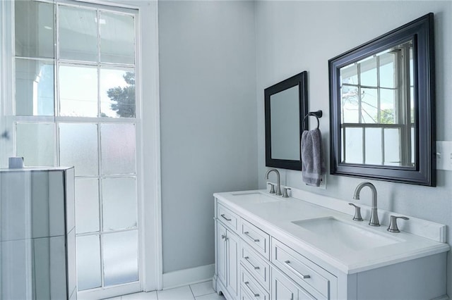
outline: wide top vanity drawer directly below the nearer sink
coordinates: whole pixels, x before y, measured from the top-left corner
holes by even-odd
[[[272,263],[314,296],[329,299],[330,287],[337,281],[335,276],[277,239],[272,239],[272,247]]]

